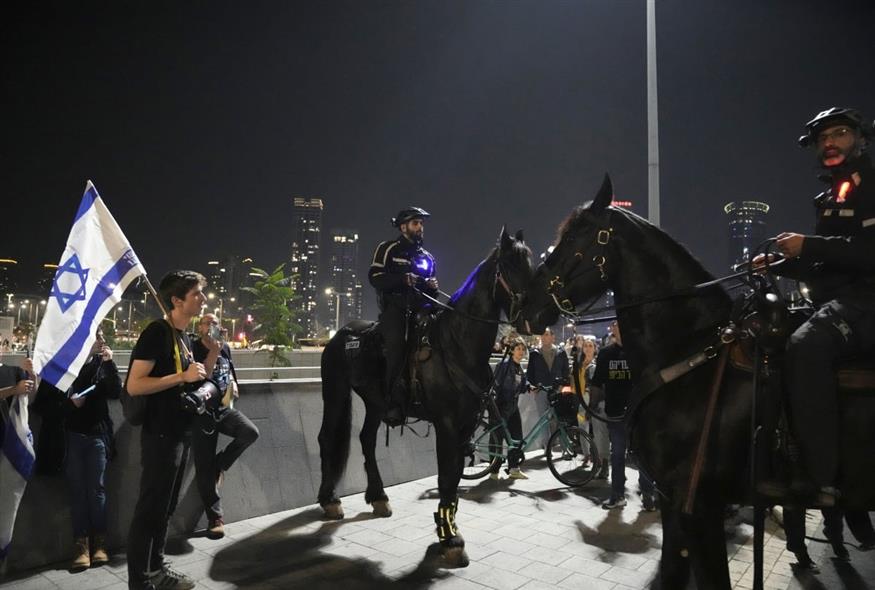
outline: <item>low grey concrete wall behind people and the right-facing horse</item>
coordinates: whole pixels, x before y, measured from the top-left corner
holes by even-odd
[[[340,495],[360,492],[366,487],[358,443],[364,406],[358,396],[353,398],[354,440],[347,474],[338,488]],[[140,428],[124,422],[117,403],[111,407],[118,456],[110,463],[106,478],[108,541],[111,547],[118,548],[126,542],[139,489]],[[320,482],[317,436],[322,423],[319,380],[244,384],[238,408],[255,422],[261,436],[226,476],[222,488],[226,522],[315,503]],[[38,437],[39,417],[32,417],[31,426]],[[400,440],[398,436],[397,429],[391,431],[388,448],[382,429],[378,439],[377,457],[385,485],[437,472],[433,435],[420,439],[407,433]],[[219,444],[227,441],[222,437]],[[193,464],[189,461],[179,508],[171,521],[171,534],[190,532],[205,524],[193,476]],[[67,482],[63,477],[34,476],[28,483],[13,539],[8,558],[10,570],[32,568],[70,556],[72,530]]]

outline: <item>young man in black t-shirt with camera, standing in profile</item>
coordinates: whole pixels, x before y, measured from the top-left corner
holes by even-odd
[[[182,395],[206,377],[191,357],[185,328],[206,303],[200,273],[177,270],[161,279],[158,293],[167,316],[150,323],[131,352],[125,384],[132,397],[148,396],[140,437],[140,493],[128,534],[128,587],[136,590],[194,588],[188,576],[164,560],[170,516],[176,508],[191,441],[194,414]]]

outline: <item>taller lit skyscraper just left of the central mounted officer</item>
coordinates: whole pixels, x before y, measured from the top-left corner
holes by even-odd
[[[288,273],[298,295],[298,323],[303,336],[316,336],[316,305],[319,301],[319,235],[322,230],[322,199],[295,197],[292,209],[292,252]]]

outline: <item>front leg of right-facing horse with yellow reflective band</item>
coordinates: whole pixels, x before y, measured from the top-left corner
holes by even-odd
[[[459,508],[459,480],[462,478],[462,443],[450,428],[436,429],[438,491],[440,503],[434,513],[441,554],[449,567],[467,567],[465,539],[456,526]]]

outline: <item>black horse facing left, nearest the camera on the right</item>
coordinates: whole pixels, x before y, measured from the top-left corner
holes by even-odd
[[[595,200],[562,223],[553,251],[527,289],[521,319],[540,333],[556,322],[560,310],[573,311],[613,291],[623,346],[633,371],[641,375],[639,386],[646,391],[643,384],[653,384],[650,395],[632,402],[628,426],[630,447],[664,494],[655,585],[686,588],[692,569],[699,588],[729,589],[724,507],[753,500],[751,375],[726,368],[705,437],[706,406],[719,361],[712,358],[662,386],[650,377],[713,345],[727,324],[732,301],[719,287],[693,295],[693,286],[713,277],[660,229],[610,206],[612,196],[606,177]],[[844,498],[868,509],[875,505],[875,435],[865,419],[873,415],[872,405],[865,396],[843,398]],[[694,458],[702,438],[704,463]],[[694,486],[697,463],[701,471]],[[695,495],[688,498],[691,489]]]

